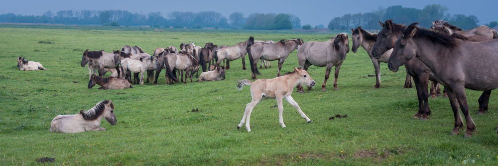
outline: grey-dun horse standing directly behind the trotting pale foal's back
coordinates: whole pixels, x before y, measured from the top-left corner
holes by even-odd
[[[296,50],[298,46],[303,44],[303,40],[290,39],[290,40],[280,40],[276,43],[264,43],[259,42],[249,47],[249,63],[251,70],[251,78],[255,79],[256,75],[261,75],[257,70],[257,61],[262,58],[264,60],[272,61],[278,60],[278,71],[277,77],[280,76],[280,70],[282,69],[283,62],[289,54]]]

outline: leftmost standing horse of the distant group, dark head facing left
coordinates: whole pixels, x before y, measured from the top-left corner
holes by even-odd
[[[89,61],[95,62],[93,65],[98,65],[100,71],[104,71],[104,68],[115,68],[120,75],[120,51],[118,53],[114,51],[113,53],[105,52],[104,50],[100,51],[88,51],[85,50],[83,52],[83,56],[81,57],[81,67],[85,67],[85,65]],[[100,73],[100,76],[103,76],[104,73]]]

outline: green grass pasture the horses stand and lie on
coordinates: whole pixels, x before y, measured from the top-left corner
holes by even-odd
[[[253,35],[256,40],[302,38],[325,41],[332,34],[278,31],[138,31],[90,28],[0,28],[0,163],[37,165],[38,158],[55,158],[50,165],[498,165],[498,93],[489,113],[478,116],[480,91],[467,91],[477,133],[452,136],[453,113],[447,98],[429,99],[432,117],[413,119],[418,101],[415,88],[403,89],[404,70],[393,73],[381,64],[382,86],[373,89],[373,65],[363,48],[350,51],[335,91],[333,74],[322,92],[325,68],[312,66],[317,82],[311,91],[294,93],[306,123],[284,102],[278,124],[276,101],[260,102],[251,116],[251,132],[237,130],[249,88],[236,88],[250,78],[241,60],[233,61],[226,80],[165,85],[135,85],[126,90],[87,89],[88,69],[81,67],[85,49],[117,50],[138,45],[156,47],[195,41],[233,45]],[[350,38],[351,39],[351,38]],[[51,41],[53,44],[38,43]],[[297,67],[294,51],[282,71]],[[16,57],[39,61],[48,70],[19,71]],[[249,60],[246,60],[249,68]],[[259,78],[276,76],[277,63],[261,69]],[[112,100],[118,123],[102,121],[105,132],[49,132],[59,114],[77,114],[101,100]],[[190,112],[198,108],[199,112]],[[347,118],[329,120],[336,114]]]

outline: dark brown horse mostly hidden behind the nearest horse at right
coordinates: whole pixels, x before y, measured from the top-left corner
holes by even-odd
[[[396,39],[402,35],[402,24],[393,23],[392,20],[386,20],[385,23],[379,22],[382,29],[377,35],[377,41],[373,46],[372,56],[378,58],[382,53],[394,47]],[[392,55],[391,55],[392,56]],[[428,119],[431,114],[429,108],[428,81],[437,81],[432,71],[420,60],[413,58],[404,63],[406,72],[413,77],[418,98],[418,112],[415,119]],[[432,90],[431,90],[432,91]]]

